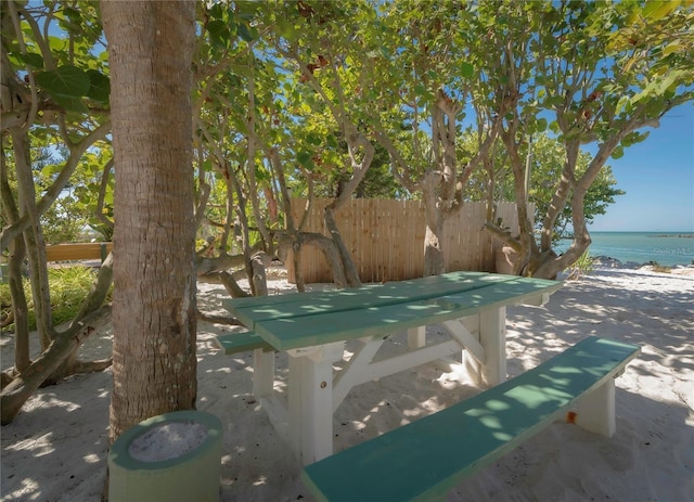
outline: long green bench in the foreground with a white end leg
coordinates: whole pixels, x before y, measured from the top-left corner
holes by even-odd
[[[614,379],[640,347],[589,337],[465,401],[305,467],[319,501],[429,501],[558,419],[611,436]]]

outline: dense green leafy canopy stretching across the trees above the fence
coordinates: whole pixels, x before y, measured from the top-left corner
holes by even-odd
[[[99,8],[83,3],[7,2],[3,9],[3,80],[14,95],[3,118],[27,119],[49,243],[75,240],[86,230],[101,239],[111,234],[111,154],[107,142],[99,143],[107,138],[100,134],[75,149],[108,113]],[[492,177],[502,181],[493,197],[517,198],[509,144],[494,138],[493,153],[478,155],[486,139],[480,131],[503,113],[518,158],[527,155],[534,134],[551,130],[557,141],[552,158],[544,158],[538,141],[545,136],[535,139],[528,199],[540,227],[564,233],[573,228],[570,204],[550,217],[554,221],[542,220],[557,190],[570,198],[571,190],[558,181],[564,160],[580,157],[587,169],[589,157],[576,147],[609,143],[607,156],[619,156],[645,138],[642,127],[689,100],[692,13],[684,3],[416,3],[200,4],[193,119],[207,236],[215,233],[219,245],[233,246],[229,220],[239,219],[233,208],[244,205],[248,224],[270,239],[266,227],[286,224],[283,183],[290,195],[340,194],[363,155],[359,144],[349,146],[355,134],[376,146],[376,155],[351,189],[354,196],[421,197],[423,175],[445,173],[439,137],[448,125],[437,125],[435,113],[441,96],[455,104],[449,118],[453,133],[470,136],[451,142],[458,157],[452,186],[461,193],[439,192],[439,198],[451,198],[449,205],[486,198],[479,190]],[[10,167],[7,132],[18,120],[3,120]],[[628,124],[612,144],[613,132]],[[485,160],[493,162],[497,175],[483,168]],[[587,222],[620,193],[607,166],[595,170],[599,186],[589,190],[583,205]],[[2,218],[3,227],[11,224],[5,211]]]

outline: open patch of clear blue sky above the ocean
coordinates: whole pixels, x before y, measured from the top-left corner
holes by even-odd
[[[650,131],[624,157],[607,162],[627,194],[589,230],[694,232],[694,106],[676,107]]]

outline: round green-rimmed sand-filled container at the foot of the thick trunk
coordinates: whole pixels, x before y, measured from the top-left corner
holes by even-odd
[[[134,446],[169,425],[190,425],[200,432],[204,428],[205,434],[201,434],[200,441],[190,451],[166,460],[143,460],[142,454],[133,450]],[[108,500],[218,502],[221,451],[222,427],[215,415],[187,410],[147,419],[123,433],[108,452]],[[169,452],[168,456],[171,454]]]

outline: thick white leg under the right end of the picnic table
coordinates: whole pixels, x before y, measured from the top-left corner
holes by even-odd
[[[485,347],[487,361],[483,381],[498,385],[506,379],[506,307],[481,309],[479,312],[479,342]]]

